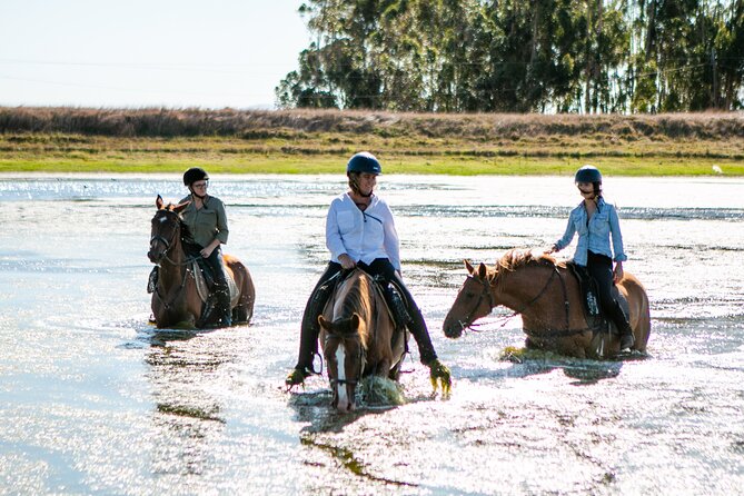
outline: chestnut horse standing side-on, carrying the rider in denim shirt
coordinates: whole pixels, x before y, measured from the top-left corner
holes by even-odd
[[[548,255],[510,250],[493,268],[477,269],[465,261],[469,276],[444,321],[445,336],[457,338],[465,328],[503,305],[522,314],[528,348],[578,358],[606,358],[619,351],[619,336],[589,325],[578,281],[565,262]],[[645,353],[651,333],[648,296],[643,285],[625,272],[617,288],[628,304],[634,350]],[[614,325],[613,325],[614,327]]]

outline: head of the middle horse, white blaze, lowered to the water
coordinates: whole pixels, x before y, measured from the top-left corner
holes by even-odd
[[[355,389],[365,368],[366,349],[361,337],[365,324],[356,313],[333,323],[320,315],[318,324],[325,331],[323,354],[334,394],[331,405],[339,411],[353,410]]]

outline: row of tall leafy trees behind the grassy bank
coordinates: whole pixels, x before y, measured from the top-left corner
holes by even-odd
[[[744,0],[307,0],[280,108],[737,110]]]

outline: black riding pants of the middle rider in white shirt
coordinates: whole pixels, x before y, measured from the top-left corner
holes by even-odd
[[[431,344],[431,337],[429,336],[426,321],[424,320],[424,315],[418,308],[418,305],[416,305],[416,301],[406,285],[396,274],[395,267],[393,267],[390,260],[387,258],[377,258],[369,265],[358,262],[357,266],[370,276],[381,278],[384,285],[394,282],[400,289],[405,300],[404,304],[410,316],[407,327],[416,340],[421,363],[426,365],[437,358],[434,345]],[[320,276],[318,284],[316,284],[315,289],[313,289],[313,292],[310,294],[310,298],[305,306],[305,314],[302,315],[297,368],[313,369],[313,358],[318,353],[318,335],[320,334],[318,315],[323,314],[323,310],[336,287],[336,282],[341,277],[340,272],[343,270],[340,264],[335,261],[328,262],[326,271]]]

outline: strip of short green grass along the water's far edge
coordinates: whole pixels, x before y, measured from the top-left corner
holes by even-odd
[[[182,172],[189,167],[205,167],[210,173],[343,173],[346,156],[267,156],[267,157],[33,157],[0,158],[4,172]],[[396,157],[383,159],[385,173],[420,175],[571,175],[584,163],[599,167],[607,176],[713,176],[717,166],[725,176],[744,176],[744,161],[721,159],[615,158],[587,159],[552,157]]]

